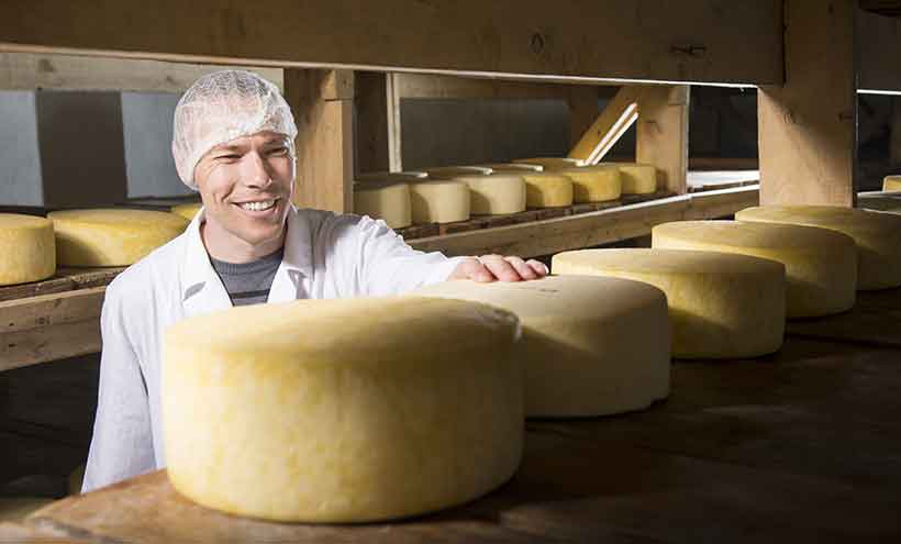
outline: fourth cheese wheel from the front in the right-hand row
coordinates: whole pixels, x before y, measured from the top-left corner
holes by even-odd
[[[817,318],[854,306],[857,247],[845,234],[812,226],[680,221],[657,225],[653,247],[737,253],[786,265],[786,315]]]

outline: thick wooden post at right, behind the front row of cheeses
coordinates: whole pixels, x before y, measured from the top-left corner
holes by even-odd
[[[786,0],[786,84],[757,93],[761,204],[854,206],[854,0]]]

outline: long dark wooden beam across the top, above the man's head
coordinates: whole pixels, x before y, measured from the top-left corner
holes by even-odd
[[[7,0],[0,48],[281,67],[779,84],[780,4]]]

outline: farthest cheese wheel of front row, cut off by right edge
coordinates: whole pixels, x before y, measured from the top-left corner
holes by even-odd
[[[837,206],[767,206],[735,214],[738,221],[819,226],[857,243],[857,289],[901,286],[901,215]]]

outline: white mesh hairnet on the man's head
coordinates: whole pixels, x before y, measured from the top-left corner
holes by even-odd
[[[256,74],[223,70],[194,81],[178,101],[173,157],[178,177],[193,190],[194,167],[216,145],[262,131],[288,136],[292,157],[297,126],[278,87]]]

